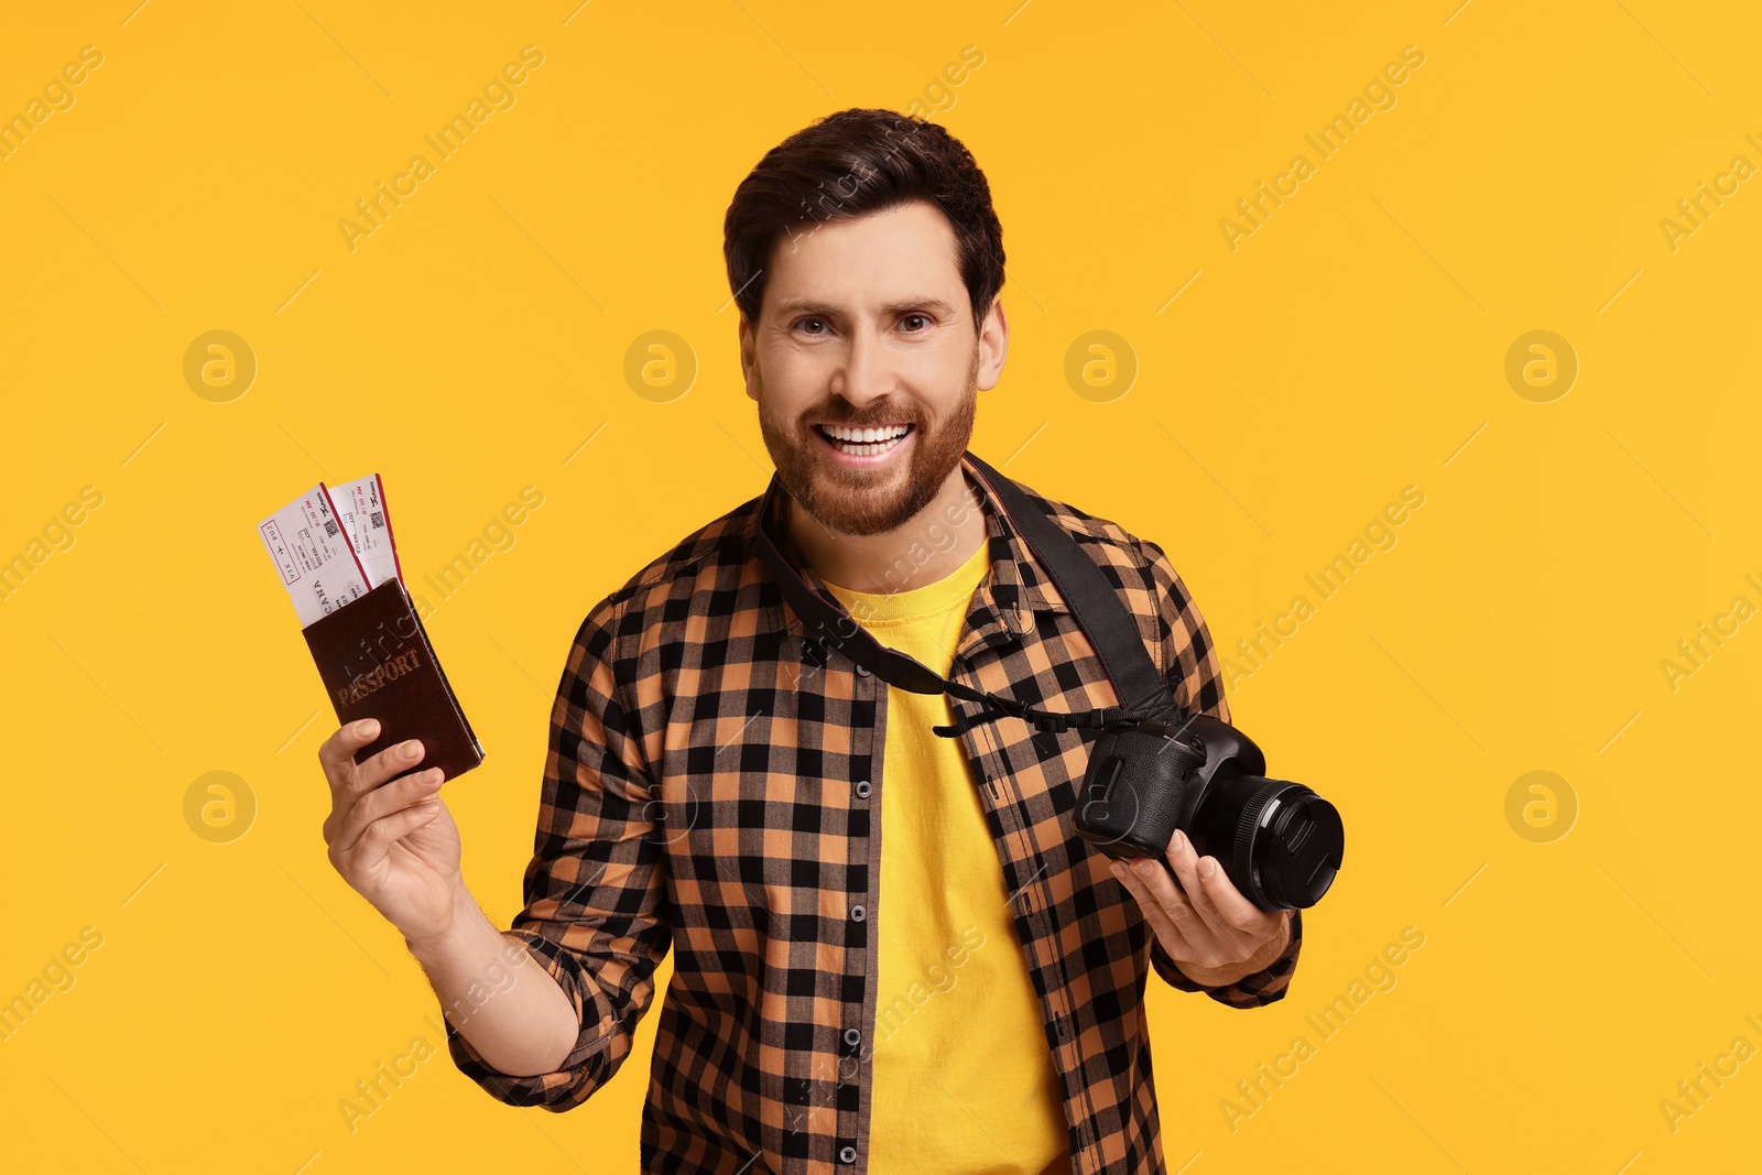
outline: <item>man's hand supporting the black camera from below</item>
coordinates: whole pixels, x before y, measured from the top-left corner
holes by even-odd
[[[1114,861],[1114,876],[1189,979],[1226,987],[1263,971],[1290,946],[1292,911],[1269,914],[1249,902],[1216,858],[1193,853],[1186,833],[1175,831],[1166,861],[1144,856],[1129,868]]]

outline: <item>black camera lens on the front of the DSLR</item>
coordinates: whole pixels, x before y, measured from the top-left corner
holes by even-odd
[[[1221,780],[1193,814],[1193,851],[1223,863],[1265,911],[1314,905],[1334,884],[1346,830],[1332,803],[1302,784],[1260,775]]]

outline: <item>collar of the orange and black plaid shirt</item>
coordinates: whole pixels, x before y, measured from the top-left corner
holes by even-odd
[[[978,491],[983,504],[985,541],[990,544],[990,573],[980,581],[978,590],[973,592],[973,604],[967,610],[967,632],[960,638],[964,650],[974,641],[988,643],[992,638],[1006,639],[1033,632],[1034,613],[1070,613],[1070,606],[1059,595],[1047,571],[1034,562],[1034,555],[1027,543],[1022,541],[1022,536],[1004,521],[1004,509],[985,484],[985,479],[973,472],[973,465],[966,456],[962,456],[960,467],[967,472],[967,484]],[[777,481],[777,474],[772,474],[772,481]],[[786,495],[788,490],[779,484],[779,504]],[[763,497],[759,504],[763,506]],[[765,527],[775,541],[779,553],[802,574],[807,587],[837,604],[837,597],[826,588],[825,580],[802,558],[802,551],[789,532],[779,527],[774,518],[765,518],[763,513],[763,509],[754,509],[752,518],[747,521],[749,557],[758,564],[759,574],[768,578],[754,546],[758,527]],[[777,602],[766,604],[763,624],[766,629],[802,631],[802,620],[781,597]]]

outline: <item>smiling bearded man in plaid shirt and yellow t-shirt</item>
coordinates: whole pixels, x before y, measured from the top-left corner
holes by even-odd
[[[1010,336],[985,176],[941,127],[844,111],[742,181],[724,257],[775,493],[581,624],[513,928],[460,879],[437,770],[386,782],[419,747],[352,763],[372,722],[319,752],[331,861],[403,932],[458,1068],[511,1105],[604,1085],[671,946],[645,1171],[1163,1171],[1147,972],[1272,1002],[1299,916],[1249,904],[1179,833],[1110,870],[1073,831],[1092,735],[888,687],[803,625],[758,546],[763,527],[853,624],[953,682],[1117,705],[967,472]],[[1228,721],[1163,550],[1052,506],[1181,708]],[[957,738],[930,733],[957,717]]]

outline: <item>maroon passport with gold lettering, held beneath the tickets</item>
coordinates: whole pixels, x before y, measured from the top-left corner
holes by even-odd
[[[356,763],[405,738],[423,743],[423,757],[411,772],[439,766],[453,779],[483,763],[483,745],[448,685],[402,580],[386,580],[301,632],[337,721],[347,726],[379,719],[379,738],[356,752]]]

